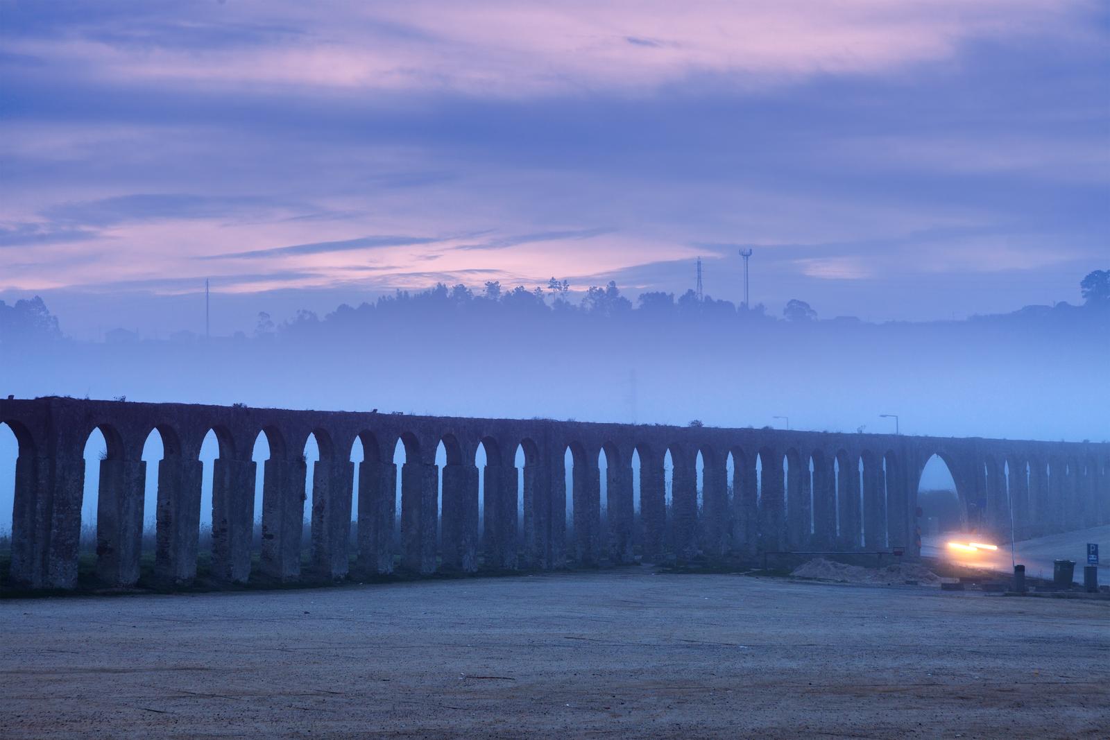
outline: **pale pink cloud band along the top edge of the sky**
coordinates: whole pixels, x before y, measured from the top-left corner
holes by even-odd
[[[123,82],[504,97],[635,93],[699,72],[758,87],[815,74],[882,73],[950,59],[976,38],[1080,39],[1091,7],[1047,0],[235,2],[192,7],[185,20],[234,26],[264,18],[304,34],[214,49],[17,40],[12,51]]]

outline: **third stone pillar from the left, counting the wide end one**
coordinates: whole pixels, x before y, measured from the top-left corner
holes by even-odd
[[[215,460],[220,463],[221,460]],[[254,464],[250,463],[251,490]],[[158,508],[154,526],[154,580],[182,586],[196,577],[196,548],[201,526],[201,486],[204,464],[198,459],[165,457],[158,464]],[[219,479],[213,475],[213,487]],[[215,549],[213,527],[213,549]]]

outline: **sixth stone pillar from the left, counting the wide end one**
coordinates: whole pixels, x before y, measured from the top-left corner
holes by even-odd
[[[333,580],[346,576],[351,539],[351,489],[354,467],[350,460],[319,460],[312,470],[312,570]]]

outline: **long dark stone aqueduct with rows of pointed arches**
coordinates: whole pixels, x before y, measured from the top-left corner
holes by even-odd
[[[352,567],[387,574],[395,560],[416,574],[589,567],[630,561],[634,547],[646,558],[668,553],[708,560],[834,547],[904,547],[912,556],[918,483],[934,455],[947,464],[965,509],[973,506],[988,530],[1008,536],[1012,520],[1021,537],[1110,523],[1107,443],[68,397],[0,399],[0,423],[12,429],[19,445],[11,579],[24,588],[77,585],[83,449],[94,429],[107,447],[99,463],[97,575],[113,586],[139,578],[148,475],[141,457],[152,430],[164,449],[154,473],[154,572],[168,586],[196,577],[200,450],[210,433],[219,442],[211,473],[211,572],[238,582],[252,577],[260,463],[252,460],[251,450],[259,435],[265,436],[270,458],[261,463],[262,539],[255,574],[280,580],[299,579],[302,569],[306,578],[324,579],[342,578]],[[305,544],[307,467],[302,450],[310,435],[320,459],[312,465],[311,543]],[[362,444],[361,463],[351,462],[355,440]],[[404,448],[400,466],[394,463],[398,440]],[[444,465],[436,464],[441,444]],[[481,470],[475,463],[480,446],[485,453]],[[394,553],[398,514],[400,551]],[[311,555],[302,568],[305,546]]]

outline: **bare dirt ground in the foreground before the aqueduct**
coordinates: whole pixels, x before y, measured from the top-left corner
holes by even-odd
[[[1110,605],[595,574],[0,602],[0,737],[1110,737]]]

